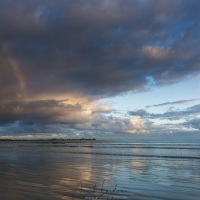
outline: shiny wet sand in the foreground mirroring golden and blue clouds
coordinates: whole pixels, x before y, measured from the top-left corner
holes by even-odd
[[[37,148],[30,145],[20,148],[2,147],[0,199],[69,200],[116,197],[115,199],[143,200],[187,197],[195,200],[200,195],[198,159],[70,152],[81,150],[45,145]],[[127,151],[129,150],[132,151],[128,148]],[[85,148],[84,151],[96,150]],[[124,153],[125,150],[122,148],[121,151]],[[147,153],[146,148],[141,151],[134,148],[134,151],[138,151],[138,154]]]

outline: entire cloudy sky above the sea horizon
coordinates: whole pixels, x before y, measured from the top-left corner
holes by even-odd
[[[0,136],[200,137],[199,7],[0,0]]]

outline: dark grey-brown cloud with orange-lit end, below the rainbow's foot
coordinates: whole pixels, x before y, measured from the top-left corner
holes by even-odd
[[[81,116],[83,111],[79,104],[72,105],[56,100],[1,102],[0,124],[80,123],[84,121]]]

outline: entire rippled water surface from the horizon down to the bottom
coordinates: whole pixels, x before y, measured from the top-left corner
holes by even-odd
[[[200,143],[1,142],[1,200],[199,200]]]

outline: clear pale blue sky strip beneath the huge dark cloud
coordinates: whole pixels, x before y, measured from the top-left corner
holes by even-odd
[[[197,99],[196,101],[185,104],[174,104],[169,106],[149,107],[148,112],[163,113],[170,107],[175,109],[184,109],[200,102],[200,77],[186,79],[177,84],[152,87],[149,91],[143,93],[127,93],[121,96],[105,98],[101,102],[107,103],[116,111],[125,113],[131,110],[146,109],[146,106],[162,104],[165,102],[175,102],[182,100]]]

